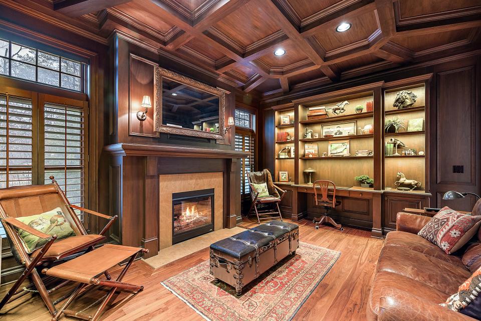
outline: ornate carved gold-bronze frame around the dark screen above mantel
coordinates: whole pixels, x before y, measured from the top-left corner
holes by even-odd
[[[206,132],[190,128],[169,126],[162,123],[162,79],[177,81],[186,86],[205,91],[219,97],[219,131]],[[211,139],[224,139],[225,132],[225,91],[220,88],[208,86],[199,81],[177,74],[173,71],[161,67],[155,67],[155,110],[154,110],[154,130],[163,133],[204,137]]]

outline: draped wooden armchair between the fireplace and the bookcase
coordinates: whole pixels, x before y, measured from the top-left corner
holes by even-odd
[[[251,188],[251,198],[252,198],[252,205],[249,209],[248,216],[251,214],[252,210],[256,211],[257,222],[261,224],[261,219],[273,219],[273,218],[280,218],[282,221],[281,209],[279,208],[279,203],[281,203],[286,191],[277,187],[273,181],[271,172],[265,169],[262,172],[250,172],[247,176],[249,180],[249,186]],[[254,184],[267,184],[267,189],[269,192],[268,196],[260,197],[261,191],[258,191]],[[280,195],[279,192],[282,194]],[[275,205],[275,208],[272,207]],[[265,207],[271,207],[265,209]],[[260,209],[258,209],[260,207]],[[277,209],[277,210],[276,210]],[[272,214],[278,214],[279,216],[272,216]]]

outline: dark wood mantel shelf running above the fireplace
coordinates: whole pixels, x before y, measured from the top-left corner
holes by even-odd
[[[157,157],[194,157],[194,158],[246,158],[244,151],[177,146],[169,144],[117,143],[107,145],[104,150],[118,156],[157,156]]]

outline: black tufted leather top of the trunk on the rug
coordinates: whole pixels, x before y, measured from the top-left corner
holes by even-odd
[[[217,241],[210,245],[210,249],[227,254],[240,261],[241,258],[258,251],[263,246],[296,228],[298,228],[296,224],[271,221]]]

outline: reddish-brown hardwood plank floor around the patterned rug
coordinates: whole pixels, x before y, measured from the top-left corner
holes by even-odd
[[[296,223],[296,222],[295,222]],[[341,251],[341,257],[299,309],[294,320],[365,320],[370,282],[382,247],[382,240],[370,237],[370,232],[345,228],[338,231],[328,226],[314,229],[308,221],[297,222],[302,242]],[[256,226],[244,220],[242,227]],[[132,320],[203,320],[194,310],[165,289],[160,282],[208,259],[208,248],[152,270],[142,262],[135,262],[124,281],[144,285],[135,296],[121,293],[103,314],[104,321]],[[116,276],[120,268],[112,270]],[[3,297],[9,286],[0,288]],[[81,310],[103,296],[101,292],[89,293],[79,299],[73,310]],[[54,297],[59,297],[55,293]],[[2,309],[2,321],[50,320],[50,314],[38,295],[25,295]],[[62,316],[63,320],[74,319]]]

